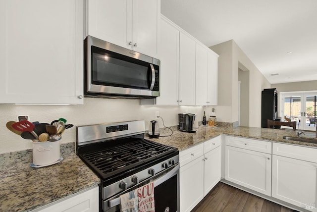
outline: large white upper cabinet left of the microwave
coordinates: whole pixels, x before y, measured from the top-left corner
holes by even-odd
[[[83,0],[3,0],[0,103],[83,104]]]

